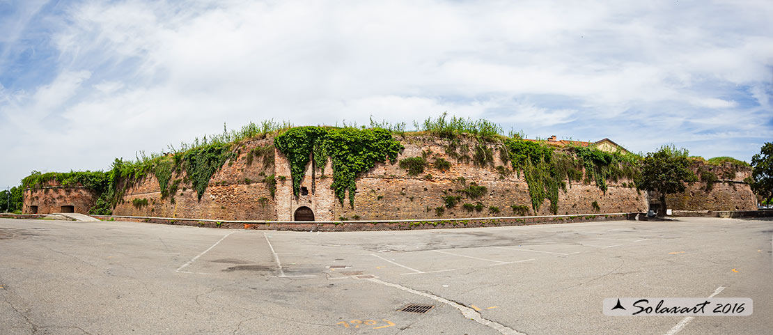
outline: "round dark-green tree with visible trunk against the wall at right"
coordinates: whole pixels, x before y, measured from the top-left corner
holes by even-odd
[[[663,145],[656,152],[648,152],[642,160],[638,186],[658,194],[658,215],[663,216],[666,215],[666,195],[683,192],[685,183],[693,183],[696,180],[695,173],[690,169],[690,160],[687,159],[687,149]]]

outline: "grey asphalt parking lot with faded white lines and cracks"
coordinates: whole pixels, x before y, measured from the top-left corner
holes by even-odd
[[[773,220],[320,233],[0,219],[0,333],[764,334],[771,255]],[[754,313],[601,310],[712,295]]]

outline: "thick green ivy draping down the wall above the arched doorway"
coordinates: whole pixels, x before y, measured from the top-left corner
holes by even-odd
[[[343,206],[348,192],[352,207],[357,190],[356,177],[373,169],[376,162],[396,162],[397,155],[404,149],[389,131],[382,128],[291,128],[274,138],[274,145],[290,162],[295,197],[300,193],[309,160],[315,162],[314,168],[324,169],[329,157],[335,197]]]

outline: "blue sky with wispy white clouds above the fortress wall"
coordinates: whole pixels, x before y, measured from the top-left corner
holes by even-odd
[[[485,118],[749,162],[773,2],[0,0],[0,187],[250,121]]]

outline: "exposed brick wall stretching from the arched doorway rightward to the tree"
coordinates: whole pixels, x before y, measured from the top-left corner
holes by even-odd
[[[429,166],[424,173],[417,176],[409,176],[399,164],[379,163],[374,169],[363,174],[357,179],[357,192],[354,208],[349,207],[349,200],[343,206],[339,203],[329,188],[332,179],[330,164],[325,169],[325,177],[317,176],[317,192],[322,193],[319,209],[325,211],[325,217],[339,220],[342,217],[347,220],[399,220],[417,218],[454,218],[454,217],[503,217],[515,216],[512,205],[529,207],[529,215],[550,215],[550,201],[545,200],[540,209],[534,213],[529,196],[529,188],[524,180],[523,173],[510,173],[502,176],[495,169],[496,166],[509,166],[500,159],[500,145],[489,145],[492,149],[494,161],[485,166],[476,166],[467,159],[455,159],[446,154],[448,141],[428,137],[409,136],[401,141],[405,146],[404,152],[397,157],[400,159],[414,156],[422,156],[422,152],[429,151],[427,157]],[[475,142],[462,141],[460,147],[474,148]],[[470,153],[472,155],[472,152]],[[446,159],[451,162],[451,168],[443,172],[435,169],[432,162],[435,159]],[[310,184],[309,171],[303,185]],[[289,169],[287,170],[289,173]],[[460,177],[465,180],[461,183]],[[458,190],[464,189],[469,183],[474,182],[485,186],[487,193],[478,199],[468,199],[462,196],[460,202],[452,208],[446,208],[444,196],[458,196]],[[637,192],[635,188],[622,186],[628,185],[629,180],[619,180],[616,183],[609,182],[606,193],[601,191],[593,183],[585,185],[582,182],[574,182],[567,185],[567,191],[559,190],[557,214],[587,214],[587,213],[621,213],[638,212],[646,210],[646,193]],[[288,196],[291,195],[291,183],[288,182]],[[284,193],[283,193],[284,194]],[[592,203],[596,201],[599,210],[594,210]],[[477,205],[482,203],[482,210],[466,210],[464,203]],[[442,210],[436,210],[441,207]],[[499,212],[492,211],[490,207],[497,207]],[[441,213],[438,213],[440,212]],[[316,213],[316,211],[315,211]],[[280,220],[289,220],[288,215],[280,215]]]

